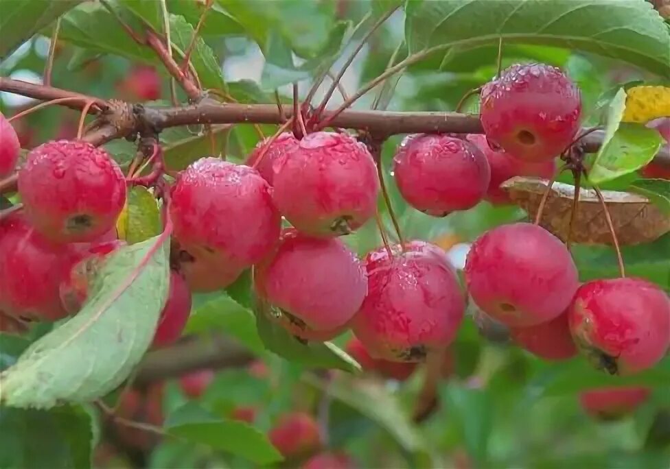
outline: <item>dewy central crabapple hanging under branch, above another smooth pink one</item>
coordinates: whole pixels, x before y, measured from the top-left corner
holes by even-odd
[[[379,180],[364,144],[349,134],[314,132],[273,163],[275,202],[305,234],[356,230],[377,211]]]

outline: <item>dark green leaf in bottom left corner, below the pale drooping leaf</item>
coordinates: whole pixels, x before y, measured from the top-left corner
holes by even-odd
[[[0,467],[89,469],[91,415],[82,407],[49,411],[0,407]]]

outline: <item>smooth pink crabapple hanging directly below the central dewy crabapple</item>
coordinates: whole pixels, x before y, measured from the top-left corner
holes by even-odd
[[[367,293],[365,269],[345,243],[293,229],[256,265],[254,282],[259,297],[281,311],[280,323],[305,340],[338,335]]]

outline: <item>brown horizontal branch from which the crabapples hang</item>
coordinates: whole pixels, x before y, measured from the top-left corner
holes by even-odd
[[[176,62],[174,64],[176,66]],[[292,109],[287,107],[284,108],[284,116],[282,116],[275,104],[220,104],[206,99],[188,106],[165,108],[126,104],[128,110],[135,113],[135,118],[124,120],[118,112],[109,115],[110,104],[102,99],[51,86],[40,86],[0,77],[0,91],[9,91],[36,99],[78,97],[80,101],[69,101],[63,104],[78,110],[82,110],[87,101],[94,99],[97,106],[106,110],[102,116],[102,125],[84,136],[85,141],[94,145],[102,145],[102,143],[132,135],[146,127],[160,131],[170,127],[197,124],[281,124],[286,121],[285,119],[291,119],[293,113]],[[200,92],[198,91],[198,93]],[[97,110],[92,108],[91,112],[97,112]],[[323,117],[328,119],[332,115],[333,111],[325,111]],[[391,112],[347,109],[338,113],[332,119],[331,125],[338,128],[365,130],[378,136],[418,132],[470,134],[481,134],[483,132],[477,115],[459,114],[457,112]],[[603,142],[603,136],[604,132],[602,131],[592,132],[585,136],[582,143],[584,143],[586,151],[596,152]],[[658,152],[654,158],[654,163],[662,167],[670,167],[670,151],[667,147],[663,147]]]

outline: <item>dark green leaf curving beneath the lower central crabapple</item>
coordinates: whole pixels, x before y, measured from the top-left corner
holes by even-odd
[[[271,352],[293,363],[310,368],[338,368],[347,372],[360,372],[360,365],[349,354],[330,342],[304,343],[288,333],[286,329],[270,320],[267,309],[270,307],[257,300],[255,307],[258,335]]]

